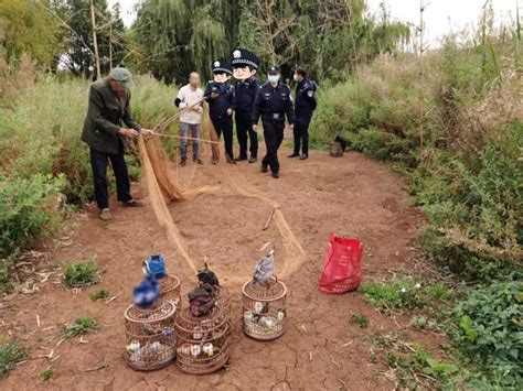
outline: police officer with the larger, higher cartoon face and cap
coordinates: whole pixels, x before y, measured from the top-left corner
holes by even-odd
[[[250,140],[249,163],[258,158],[258,135],[253,130],[253,105],[259,90],[259,82],[255,77],[259,58],[245,48],[237,48],[231,55],[236,84],[236,135],[239,144],[239,155],[236,161],[247,160],[247,139]]]

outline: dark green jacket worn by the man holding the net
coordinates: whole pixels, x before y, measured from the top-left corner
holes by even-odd
[[[102,79],[90,85],[89,107],[84,121],[82,141],[94,150],[105,153],[118,153],[119,142],[127,144],[126,138],[118,134],[121,123],[127,127],[141,130],[141,127],[132,119],[129,101],[130,91],[121,97],[121,104],[115,93],[110,89],[109,80]]]

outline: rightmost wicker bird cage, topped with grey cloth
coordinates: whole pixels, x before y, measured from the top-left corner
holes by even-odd
[[[243,289],[244,333],[258,340],[270,340],[285,333],[287,286],[277,279],[266,285],[254,281]]]

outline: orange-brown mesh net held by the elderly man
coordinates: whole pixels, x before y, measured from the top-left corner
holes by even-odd
[[[178,117],[172,117],[171,120],[163,121],[161,127],[157,126],[156,131],[167,128]],[[167,203],[169,200],[183,202],[194,198],[198,195],[216,192],[215,186],[201,186],[189,188],[191,181],[194,177],[192,173],[188,185],[182,188],[178,183],[178,175],[173,172],[175,164],[171,162],[163,148],[162,138],[171,137],[179,138],[178,135],[164,134],[157,132],[159,137],[154,137],[149,140],[139,139],[139,151],[142,162],[143,177],[146,181],[147,191],[150,197],[150,205],[154,211],[160,227],[166,230],[169,241],[173,245],[178,253],[185,261],[186,265],[191,269],[192,275],[195,275],[199,268],[196,262],[192,259],[188,251],[188,247],[183,241],[183,237],[174,224],[172,216],[169,211]],[[296,235],[292,232],[289,224],[287,222],[281,207],[278,203],[267,197],[264,193],[254,187],[245,177],[242,175],[239,170],[234,164],[227,164],[226,154],[223,146],[220,144],[220,139],[212,124],[209,116],[209,108],[205,106],[202,120],[202,134],[200,138],[200,144],[202,148],[202,155],[209,152],[207,146],[211,148],[212,160],[218,165],[218,175],[221,176],[221,183],[226,184],[234,194],[247,197],[256,198],[270,207],[270,216],[266,222],[266,227],[274,221],[278,231],[281,236],[284,247],[286,250],[286,258],[284,262],[280,262],[281,270],[278,271],[278,275],[285,279],[295,272],[298,267],[303,262],[306,252],[301,247]],[[196,165],[194,165],[196,170]],[[249,268],[250,269],[250,268]],[[221,274],[224,274],[221,272]],[[230,283],[242,283],[245,279],[239,276],[227,276]]]

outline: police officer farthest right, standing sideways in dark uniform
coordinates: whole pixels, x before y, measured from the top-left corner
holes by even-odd
[[[295,151],[289,158],[300,158],[306,160],[309,158],[309,123],[312,112],[317,107],[316,84],[307,79],[307,70],[298,67],[295,73],[296,86],[296,121],[295,121]],[[300,155],[301,144],[301,155]]]

